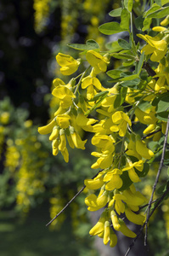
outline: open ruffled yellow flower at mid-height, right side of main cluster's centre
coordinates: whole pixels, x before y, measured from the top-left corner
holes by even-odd
[[[126,113],[122,111],[116,111],[112,115],[112,121],[114,125],[111,125],[110,131],[119,131],[119,135],[124,137],[127,132],[127,125],[132,125],[131,120]]]

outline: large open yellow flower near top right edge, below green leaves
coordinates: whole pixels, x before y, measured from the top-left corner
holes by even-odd
[[[166,55],[167,51],[167,38],[160,38],[158,35],[154,38],[150,37],[149,35],[137,35],[139,38],[144,39],[148,44],[144,46],[141,52],[144,52],[145,55],[152,54],[150,57],[151,61],[161,61],[161,59]],[[166,36],[167,37],[167,36]]]

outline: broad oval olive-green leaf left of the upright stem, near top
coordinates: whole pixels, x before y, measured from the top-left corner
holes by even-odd
[[[108,22],[99,26],[99,32],[102,32],[104,35],[113,35],[123,31],[127,31],[127,29],[121,28],[118,22]]]

